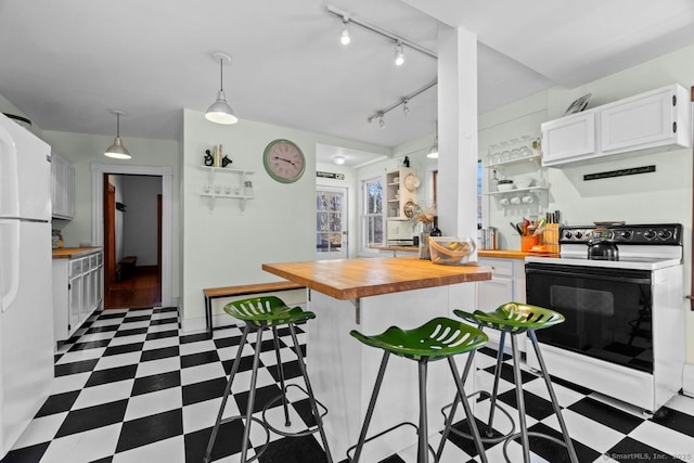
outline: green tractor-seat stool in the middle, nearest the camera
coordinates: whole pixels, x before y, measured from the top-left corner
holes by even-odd
[[[479,452],[479,458],[483,463],[488,462],[487,455],[485,453],[485,448],[483,447],[481,440],[479,438],[479,433],[477,432],[475,417],[473,416],[472,409],[470,408],[470,403],[467,402],[467,398],[465,397],[465,391],[463,389],[465,377],[461,378],[461,375],[458,373],[455,360],[453,359],[455,355],[460,353],[468,353],[472,356],[478,347],[484,345],[489,339],[485,333],[466,323],[461,323],[459,321],[447,318],[436,318],[413,330],[403,331],[397,326],[390,326],[385,332],[373,336],[363,335],[355,330],[349,332],[349,334],[359,339],[361,343],[371,347],[383,349],[384,351],[383,359],[381,361],[381,368],[378,369],[378,374],[376,376],[376,384],[374,386],[371,400],[369,401],[367,416],[364,416],[364,423],[359,435],[359,441],[356,446],[347,449],[347,459],[350,462],[359,462],[359,458],[361,456],[361,452],[365,442],[383,436],[384,434],[389,433],[403,425],[410,425],[417,429],[417,463],[428,463],[429,453],[432,453],[432,455],[434,456],[433,461],[439,461],[439,458],[434,453],[434,450],[428,443],[428,425],[426,414],[426,372],[429,361],[442,359],[448,360],[451,369],[451,374],[453,375],[453,381],[455,382],[458,394],[460,395],[460,397],[462,397],[463,409],[465,410],[465,415],[467,416],[467,420],[470,422],[470,428],[472,429],[473,440],[475,441],[475,446],[477,447],[477,451]],[[400,423],[382,433],[367,438],[367,433],[369,432],[369,423],[371,422],[371,417],[373,416],[373,411],[376,406],[376,399],[378,397],[378,391],[381,389],[381,384],[383,383],[383,376],[385,374],[390,353],[395,353],[396,356],[403,357],[406,359],[415,360],[417,362],[420,386],[420,423],[419,426],[409,422]],[[349,452],[352,450],[355,450],[354,458],[349,454]]]

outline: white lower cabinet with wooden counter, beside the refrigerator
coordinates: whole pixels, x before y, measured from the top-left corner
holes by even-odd
[[[103,253],[53,259],[53,333],[68,339],[103,305]]]

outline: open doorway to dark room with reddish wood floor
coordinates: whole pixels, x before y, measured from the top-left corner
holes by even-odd
[[[103,175],[104,308],[162,306],[162,177]]]

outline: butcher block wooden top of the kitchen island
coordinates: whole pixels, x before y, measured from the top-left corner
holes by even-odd
[[[262,270],[336,299],[491,279],[491,269],[476,263],[439,266],[413,257],[264,263]]]

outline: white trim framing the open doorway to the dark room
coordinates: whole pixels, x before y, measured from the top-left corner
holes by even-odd
[[[160,176],[162,177],[162,306],[170,307],[172,266],[172,232],[174,232],[174,167],[171,166],[121,166],[116,164],[91,164],[91,241],[95,246],[104,243],[104,173]]]

